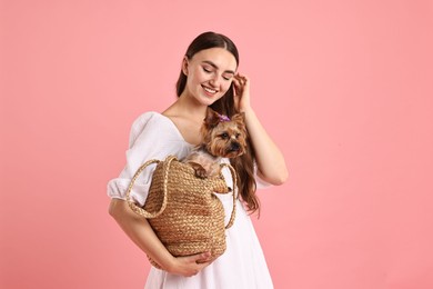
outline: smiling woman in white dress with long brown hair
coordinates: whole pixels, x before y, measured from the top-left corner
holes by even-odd
[[[163,270],[152,267],[147,288],[272,288],[272,280],[248,211],[259,210],[256,185],[282,185],[288,170],[281,151],[268,136],[250,103],[250,81],[239,73],[239,54],[225,36],[205,32],[187,50],[177,83],[178,100],[162,113],[147,112],[133,123],[127,166],[108,185],[112,198],[109,212],[131,238]],[[232,160],[239,175],[236,219],[226,231],[226,250],[216,260],[208,252],[173,257],[161,243],[149,222],[130,210],[125,191],[135,170],[149,159],[168,155],[182,159],[200,142],[200,127],[208,106],[220,113],[245,113],[249,152]],[[150,173],[141,176],[131,193],[143,205]],[[137,186],[135,186],[137,187]],[[230,196],[218,196],[230,215]]]

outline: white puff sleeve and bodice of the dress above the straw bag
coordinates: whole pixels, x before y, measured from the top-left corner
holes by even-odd
[[[131,179],[141,165],[151,159],[164,160],[169,155],[182,159],[190,149],[191,146],[183,140],[170,119],[158,112],[141,114],[131,128],[127,165],[118,178],[108,182],[108,196],[124,200]],[[154,167],[148,167],[132,188],[131,198],[140,206],[148,197]]]

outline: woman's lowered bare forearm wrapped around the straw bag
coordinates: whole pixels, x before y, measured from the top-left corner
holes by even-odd
[[[147,219],[133,212],[127,201],[119,199],[111,200],[109,212],[143,252],[165,271],[171,270],[175,258],[158,239]]]

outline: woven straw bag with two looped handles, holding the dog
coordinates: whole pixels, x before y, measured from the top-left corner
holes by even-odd
[[[143,207],[130,199],[130,193],[140,173],[151,163],[158,163],[152,176],[148,198]],[[236,175],[229,163],[233,179],[233,209],[229,223],[224,225],[224,208],[216,193],[228,193],[222,173],[213,178],[195,177],[194,169],[169,156],[164,161],[149,160],[133,176],[127,191],[129,207],[148,219],[154,232],[171,255],[190,256],[210,252],[212,258],[225,251],[225,229],[235,218]],[[151,258],[150,262],[160,268]]]

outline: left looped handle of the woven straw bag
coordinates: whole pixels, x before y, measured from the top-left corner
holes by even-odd
[[[164,210],[165,210],[165,207],[167,207],[167,199],[168,199],[168,192],[167,192],[167,183],[169,181],[169,168],[170,168],[170,165],[171,162],[175,160],[175,157],[174,156],[169,156],[167,159],[165,159],[165,162],[163,163],[163,166],[167,166],[167,168],[164,168],[163,172],[163,192],[164,192],[164,197],[163,197],[163,200],[162,200],[162,205],[161,205],[161,208],[158,212],[149,212],[147,210],[144,210],[143,208],[137,206],[135,202],[133,202],[131,200],[131,190],[132,190],[132,187],[137,180],[137,178],[140,176],[140,173],[149,166],[149,165],[152,165],[152,163],[160,163],[161,161],[160,160],[149,160],[147,162],[144,162],[135,172],[135,175],[132,177],[131,179],[131,183],[129,185],[128,187],[128,191],[127,191],[127,201],[128,201],[128,205],[129,207],[131,208],[132,211],[134,211],[135,213],[140,215],[140,216],[143,216],[144,218],[147,219],[152,219],[152,218],[155,218],[158,216],[160,216]]]

